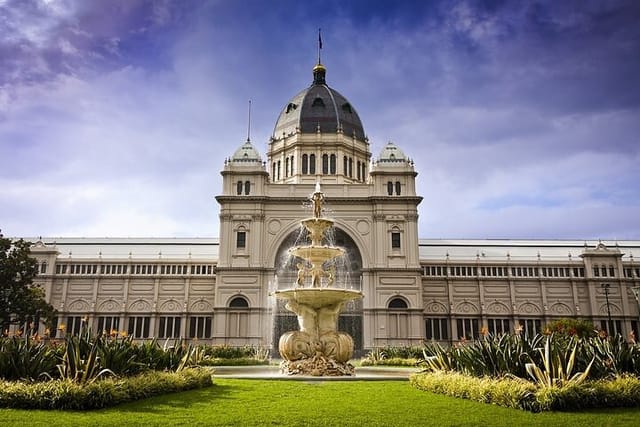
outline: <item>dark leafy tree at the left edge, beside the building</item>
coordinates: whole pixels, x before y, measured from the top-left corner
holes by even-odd
[[[11,240],[0,233],[0,326],[2,334],[9,325],[34,324],[50,321],[53,307],[45,301],[44,290],[33,283],[38,263],[30,256],[31,243],[23,239]]]

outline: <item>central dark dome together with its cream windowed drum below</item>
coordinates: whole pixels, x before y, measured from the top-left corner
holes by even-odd
[[[353,105],[326,83],[327,69],[313,67],[311,86],[287,102],[269,141],[272,183],[366,182],[369,140]]]

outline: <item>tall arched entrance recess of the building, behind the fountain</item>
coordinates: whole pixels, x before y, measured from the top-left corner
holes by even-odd
[[[296,286],[297,267],[299,259],[290,256],[289,248],[296,245],[307,245],[306,230],[296,230],[289,234],[280,245],[275,271],[277,275],[278,289],[287,289]],[[333,227],[326,236],[325,243],[345,249],[345,255],[335,260],[336,287],[361,290],[362,256],[353,239],[342,229]],[[309,286],[309,284],[307,284]],[[365,295],[366,298],[366,295]],[[273,348],[277,353],[280,336],[288,331],[298,330],[297,317],[284,307],[284,301],[278,300],[274,313]],[[363,314],[362,301],[348,303],[338,318],[338,330],[351,335],[354,342],[354,356],[363,354]]]

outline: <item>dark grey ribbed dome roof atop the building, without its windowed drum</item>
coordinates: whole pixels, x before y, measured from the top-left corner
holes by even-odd
[[[326,68],[317,64],[313,69],[313,84],[304,89],[284,106],[273,137],[279,139],[299,130],[302,133],[336,133],[364,140],[360,117],[351,103],[325,82]]]

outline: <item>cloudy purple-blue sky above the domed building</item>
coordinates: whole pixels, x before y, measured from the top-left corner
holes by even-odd
[[[421,238],[640,239],[640,2],[0,0],[0,229],[217,237],[220,171],[327,83]]]

